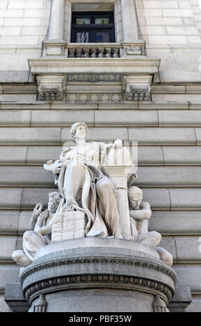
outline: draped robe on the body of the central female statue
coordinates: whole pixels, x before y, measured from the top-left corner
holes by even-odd
[[[62,199],[56,212],[83,210],[88,222],[86,236],[121,237],[116,187],[102,164],[106,158],[106,144],[86,143],[86,151],[79,152],[77,146],[66,148],[60,156],[63,166],[59,175],[54,175]],[[84,158],[83,158],[84,156]],[[59,161],[58,161],[59,162]],[[71,178],[73,166],[80,168],[83,176],[77,196],[72,198],[71,207],[66,205],[65,182],[76,182]],[[70,185],[68,185],[70,189]],[[72,194],[72,191],[71,191]]]

